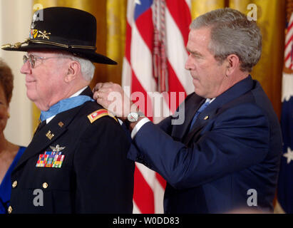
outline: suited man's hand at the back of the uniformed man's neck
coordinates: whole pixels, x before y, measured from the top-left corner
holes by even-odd
[[[121,86],[115,83],[96,84],[93,88],[93,99],[123,121],[126,120],[130,110],[138,111]]]

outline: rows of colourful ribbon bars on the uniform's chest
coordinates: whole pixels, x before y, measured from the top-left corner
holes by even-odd
[[[36,167],[61,168],[64,157],[62,152],[45,151],[43,154],[38,155]]]

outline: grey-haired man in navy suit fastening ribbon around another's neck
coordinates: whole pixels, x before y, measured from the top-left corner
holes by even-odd
[[[178,109],[184,123],[170,116],[154,125],[135,105],[115,113],[132,130],[128,157],[168,182],[165,213],[272,212],[282,137],[267,95],[250,76],[261,50],[255,21],[233,9],[210,11],[190,25],[185,68],[195,93]],[[104,107],[109,93],[123,93],[112,83],[95,90]],[[129,110],[130,100],[123,102]]]

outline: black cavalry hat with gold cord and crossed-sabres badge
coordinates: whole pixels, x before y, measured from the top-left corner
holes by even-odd
[[[36,11],[29,38],[22,43],[4,44],[1,48],[6,51],[63,50],[94,63],[117,64],[96,53],[96,18],[86,11],[67,7]]]

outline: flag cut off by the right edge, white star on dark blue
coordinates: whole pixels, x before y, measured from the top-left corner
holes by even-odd
[[[293,213],[293,14],[285,38],[284,72],[282,78],[283,154],[279,172],[277,199],[282,210]]]

